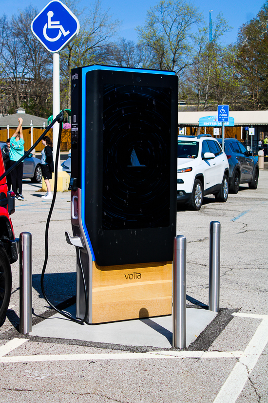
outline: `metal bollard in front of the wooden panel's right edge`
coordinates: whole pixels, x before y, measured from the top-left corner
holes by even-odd
[[[174,238],[172,346],[186,347],[186,237]]]

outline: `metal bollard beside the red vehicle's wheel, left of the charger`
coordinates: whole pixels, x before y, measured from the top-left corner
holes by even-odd
[[[19,332],[32,331],[32,234],[19,235]]]

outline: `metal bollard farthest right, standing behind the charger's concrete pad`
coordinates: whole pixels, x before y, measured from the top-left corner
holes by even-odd
[[[219,312],[220,309],[220,244],[221,224],[211,221],[209,310],[213,312]]]

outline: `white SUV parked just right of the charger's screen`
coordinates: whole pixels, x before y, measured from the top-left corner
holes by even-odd
[[[220,144],[209,134],[178,136],[177,202],[200,210],[203,197],[228,199],[229,164]]]

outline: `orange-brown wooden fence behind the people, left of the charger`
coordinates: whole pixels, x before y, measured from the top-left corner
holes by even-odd
[[[16,129],[9,129],[9,137],[11,137],[15,133]],[[27,151],[31,147],[31,129],[24,129],[22,130],[23,137],[24,137],[24,150]],[[33,138],[34,143],[37,141],[38,137],[44,132],[44,129],[33,129]],[[53,139],[53,132],[52,129],[48,131],[46,134],[48,137]],[[0,141],[6,141],[7,139],[7,129],[0,130]],[[57,144],[55,144],[55,147]],[[44,148],[42,142],[40,142],[37,147],[36,151],[41,151]],[[60,141],[60,150],[61,151],[69,151],[71,148],[71,129],[62,129],[61,132],[61,141]]]

